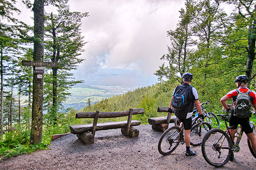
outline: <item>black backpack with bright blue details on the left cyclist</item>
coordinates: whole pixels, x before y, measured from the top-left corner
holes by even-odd
[[[189,103],[189,89],[191,89],[191,85],[187,85],[183,87],[180,85],[180,88],[178,88],[173,96],[172,99],[172,107],[183,111],[186,110]]]

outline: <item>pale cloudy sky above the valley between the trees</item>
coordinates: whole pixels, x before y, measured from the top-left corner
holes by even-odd
[[[77,79],[101,77],[99,84],[104,85],[157,82],[153,73],[170,44],[166,31],[176,28],[184,0],[70,0],[69,5],[71,11],[90,15],[82,20],[88,43],[80,56],[86,60],[74,71]],[[32,25],[32,11],[20,2],[17,7],[23,11],[19,17]]]

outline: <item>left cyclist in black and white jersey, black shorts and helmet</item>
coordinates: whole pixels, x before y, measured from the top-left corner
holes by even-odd
[[[191,80],[193,79],[193,75],[192,74],[184,73],[182,75],[182,78],[183,78],[183,82],[184,83],[183,83],[183,85],[178,85],[175,88],[173,96],[176,93],[177,89],[180,88],[180,86],[183,86],[183,88],[191,86],[190,83],[191,83]],[[185,144],[186,144],[186,156],[192,156],[192,155],[196,154],[195,151],[192,151],[190,149],[190,129],[192,127],[192,113],[193,113],[193,110],[194,110],[194,104],[195,104],[198,112],[200,113],[200,117],[204,118],[204,115],[202,113],[202,109],[201,109],[201,105],[200,105],[200,102],[199,102],[199,97],[198,97],[197,90],[194,87],[192,87],[192,88],[189,88],[188,93],[189,94],[187,96],[189,98],[188,99],[189,103],[188,103],[188,107],[186,108],[186,110],[180,111],[180,110],[177,110],[177,109],[173,108],[172,107],[173,96],[172,96],[172,99],[171,99],[171,102],[170,102],[170,108],[168,110],[168,113],[171,115],[172,112],[174,111],[175,116],[177,116],[177,118],[180,119],[180,122],[183,123],[183,127],[184,127],[184,141],[185,141]],[[172,109],[173,109],[173,111],[172,111]]]

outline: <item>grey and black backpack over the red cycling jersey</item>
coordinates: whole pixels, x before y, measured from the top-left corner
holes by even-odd
[[[236,107],[234,108],[234,115],[238,118],[247,118],[251,116],[251,105],[249,94],[252,90],[248,90],[246,93],[242,93],[238,88],[236,101]]]

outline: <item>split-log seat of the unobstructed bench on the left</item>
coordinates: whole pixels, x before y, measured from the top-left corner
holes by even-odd
[[[96,131],[125,128],[126,124],[127,124],[127,121],[97,123]],[[140,124],[141,122],[138,120],[131,120],[131,126],[138,126]],[[70,125],[70,130],[71,130],[71,133],[78,134],[78,133],[83,133],[85,131],[91,131],[92,127],[93,127],[93,124]]]

